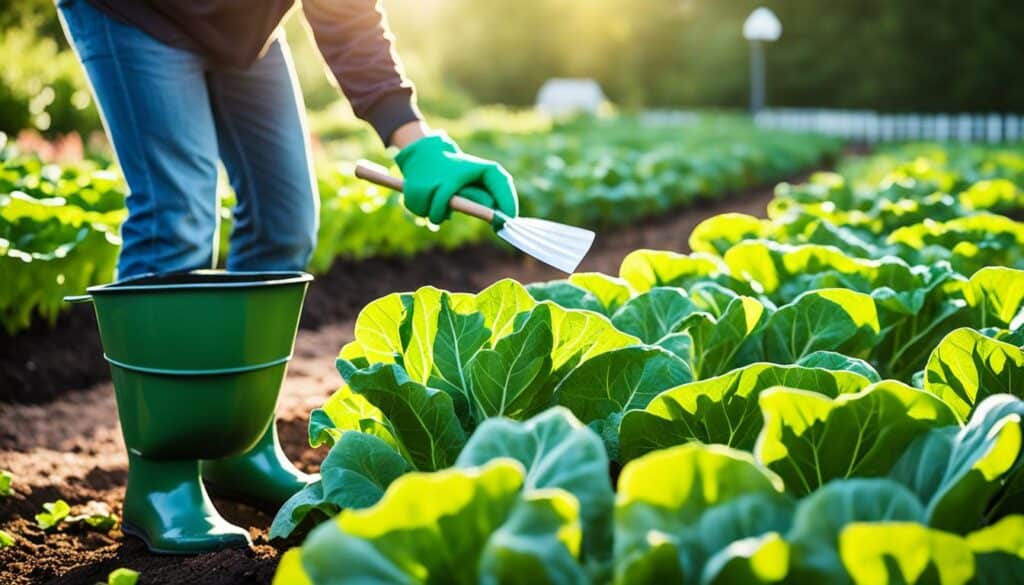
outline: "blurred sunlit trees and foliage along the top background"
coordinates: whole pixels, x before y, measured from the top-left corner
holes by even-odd
[[[79,0],[83,1],[83,0]],[[768,102],[889,112],[1024,111],[1020,0],[384,0],[428,114],[527,106],[550,77],[593,77],[632,108],[742,108],[746,14],[772,8]],[[343,119],[300,18],[289,40],[313,112]],[[99,129],[52,0],[0,0],[0,130]],[[341,127],[344,127],[342,124]],[[335,128],[337,129],[337,128]]]

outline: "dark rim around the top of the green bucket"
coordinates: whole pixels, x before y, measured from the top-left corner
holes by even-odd
[[[147,273],[113,283],[94,285],[86,291],[89,295],[109,295],[180,290],[253,289],[308,283],[312,280],[312,275],[301,270]]]

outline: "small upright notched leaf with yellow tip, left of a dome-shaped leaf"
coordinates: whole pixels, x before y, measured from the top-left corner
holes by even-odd
[[[700,380],[735,367],[737,353],[762,323],[765,307],[745,296],[734,298],[722,317],[695,312],[680,326],[693,339],[693,377]]]

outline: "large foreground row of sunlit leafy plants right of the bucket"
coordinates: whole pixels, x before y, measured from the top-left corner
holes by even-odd
[[[926,183],[820,175],[616,277],[374,301],[278,582],[1014,582],[1024,225],[998,179]]]

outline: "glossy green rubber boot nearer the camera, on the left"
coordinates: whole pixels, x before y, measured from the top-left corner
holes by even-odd
[[[153,552],[196,554],[252,544],[248,532],[213,507],[199,461],[158,461],[129,452],[128,462],[124,532]]]

